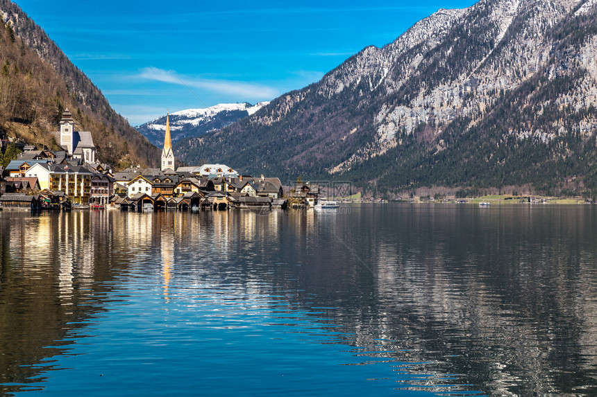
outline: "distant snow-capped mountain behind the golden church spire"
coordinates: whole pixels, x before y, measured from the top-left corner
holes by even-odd
[[[180,139],[201,136],[205,132],[219,130],[239,121],[241,118],[251,116],[269,102],[260,102],[256,105],[250,103],[221,103],[203,109],[186,109],[170,114],[170,134],[172,143]],[[161,116],[153,121],[139,125],[137,131],[141,132],[154,145],[161,148],[164,145],[166,130],[166,116]]]

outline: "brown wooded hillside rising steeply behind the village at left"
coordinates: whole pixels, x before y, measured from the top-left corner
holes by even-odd
[[[117,114],[42,28],[10,0],[0,0],[0,132],[56,146],[62,110],[92,133],[97,157],[116,168],[154,166],[160,150]]]

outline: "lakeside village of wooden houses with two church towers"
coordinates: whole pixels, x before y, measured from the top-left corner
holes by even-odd
[[[160,168],[131,167],[113,173],[96,158],[90,132],[77,131],[68,109],[56,142],[62,150],[22,145],[0,178],[0,206],[26,209],[117,208],[131,211],[231,208],[284,209],[278,177],[242,175],[224,164],[176,168],[169,119]],[[3,143],[6,145],[6,142]],[[12,143],[14,145],[14,143]],[[5,151],[8,148],[5,148]],[[175,170],[176,168],[176,170]],[[295,202],[313,202],[319,186],[295,186]]]

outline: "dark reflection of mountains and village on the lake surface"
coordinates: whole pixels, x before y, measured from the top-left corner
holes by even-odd
[[[0,394],[47,377],[135,277],[168,305],[201,285],[310,312],[398,388],[597,393],[593,207],[349,209],[0,213]]]

